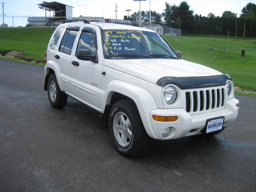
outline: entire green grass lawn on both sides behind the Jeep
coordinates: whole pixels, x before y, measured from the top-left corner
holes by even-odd
[[[44,52],[54,28],[0,28],[0,54],[21,51],[26,58],[44,61]],[[232,77],[235,86],[256,91],[256,38],[211,38],[210,35],[164,36],[182,58],[209,66]],[[224,52],[224,47],[226,52]],[[208,50],[213,48],[214,50]],[[241,50],[246,50],[241,57]]]

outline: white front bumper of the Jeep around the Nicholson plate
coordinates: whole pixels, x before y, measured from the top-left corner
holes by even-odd
[[[224,116],[224,126],[237,118],[239,107],[237,99],[231,99],[226,102],[225,108],[222,110],[208,112],[204,114],[189,115],[183,108],[174,109],[155,109],[150,111],[150,120],[154,134],[159,140],[170,140],[200,134],[204,128],[206,120],[219,116]],[[159,122],[152,118],[153,115],[158,116],[178,116],[174,122]],[[171,134],[164,138],[162,132],[164,129],[171,127]]]

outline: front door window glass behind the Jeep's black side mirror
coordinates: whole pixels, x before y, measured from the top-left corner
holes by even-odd
[[[88,49],[90,50],[92,55],[96,55],[96,47],[94,42],[94,36],[92,35],[92,33],[82,32],[78,42],[76,53],[80,49]]]

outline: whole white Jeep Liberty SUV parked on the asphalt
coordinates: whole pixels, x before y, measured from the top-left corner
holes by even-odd
[[[228,74],[180,59],[157,32],[86,20],[56,28],[44,90],[54,108],[70,96],[102,113],[126,157],[144,154],[150,138],[218,134],[239,110]]]

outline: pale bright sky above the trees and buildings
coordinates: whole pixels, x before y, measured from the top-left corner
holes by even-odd
[[[123,19],[127,14],[126,9],[131,9],[132,13],[139,10],[139,2],[133,0],[56,0],[57,2],[73,6],[73,16],[104,16],[105,18],[114,19],[116,14],[115,4],[117,4],[117,17]],[[164,2],[170,4],[180,4],[182,0],[151,0],[151,10],[162,12]],[[37,4],[42,3],[38,0],[1,0],[4,2],[4,14],[6,16],[44,16],[45,11],[38,8]],[[50,2],[50,1],[48,1]],[[187,0],[190,8],[194,13],[206,16],[213,12],[216,16],[221,16],[225,10],[241,13],[241,9],[248,2],[256,3],[256,0]],[[2,5],[2,4],[1,4]],[[149,0],[141,2],[142,10],[149,10]],[[47,13],[49,14],[49,13]],[[129,13],[130,14],[130,13]],[[0,24],[2,24],[2,7],[0,9]],[[8,25],[12,25],[12,18],[6,17],[4,20]],[[27,18],[14,18],[14,26],[25,26]]]

